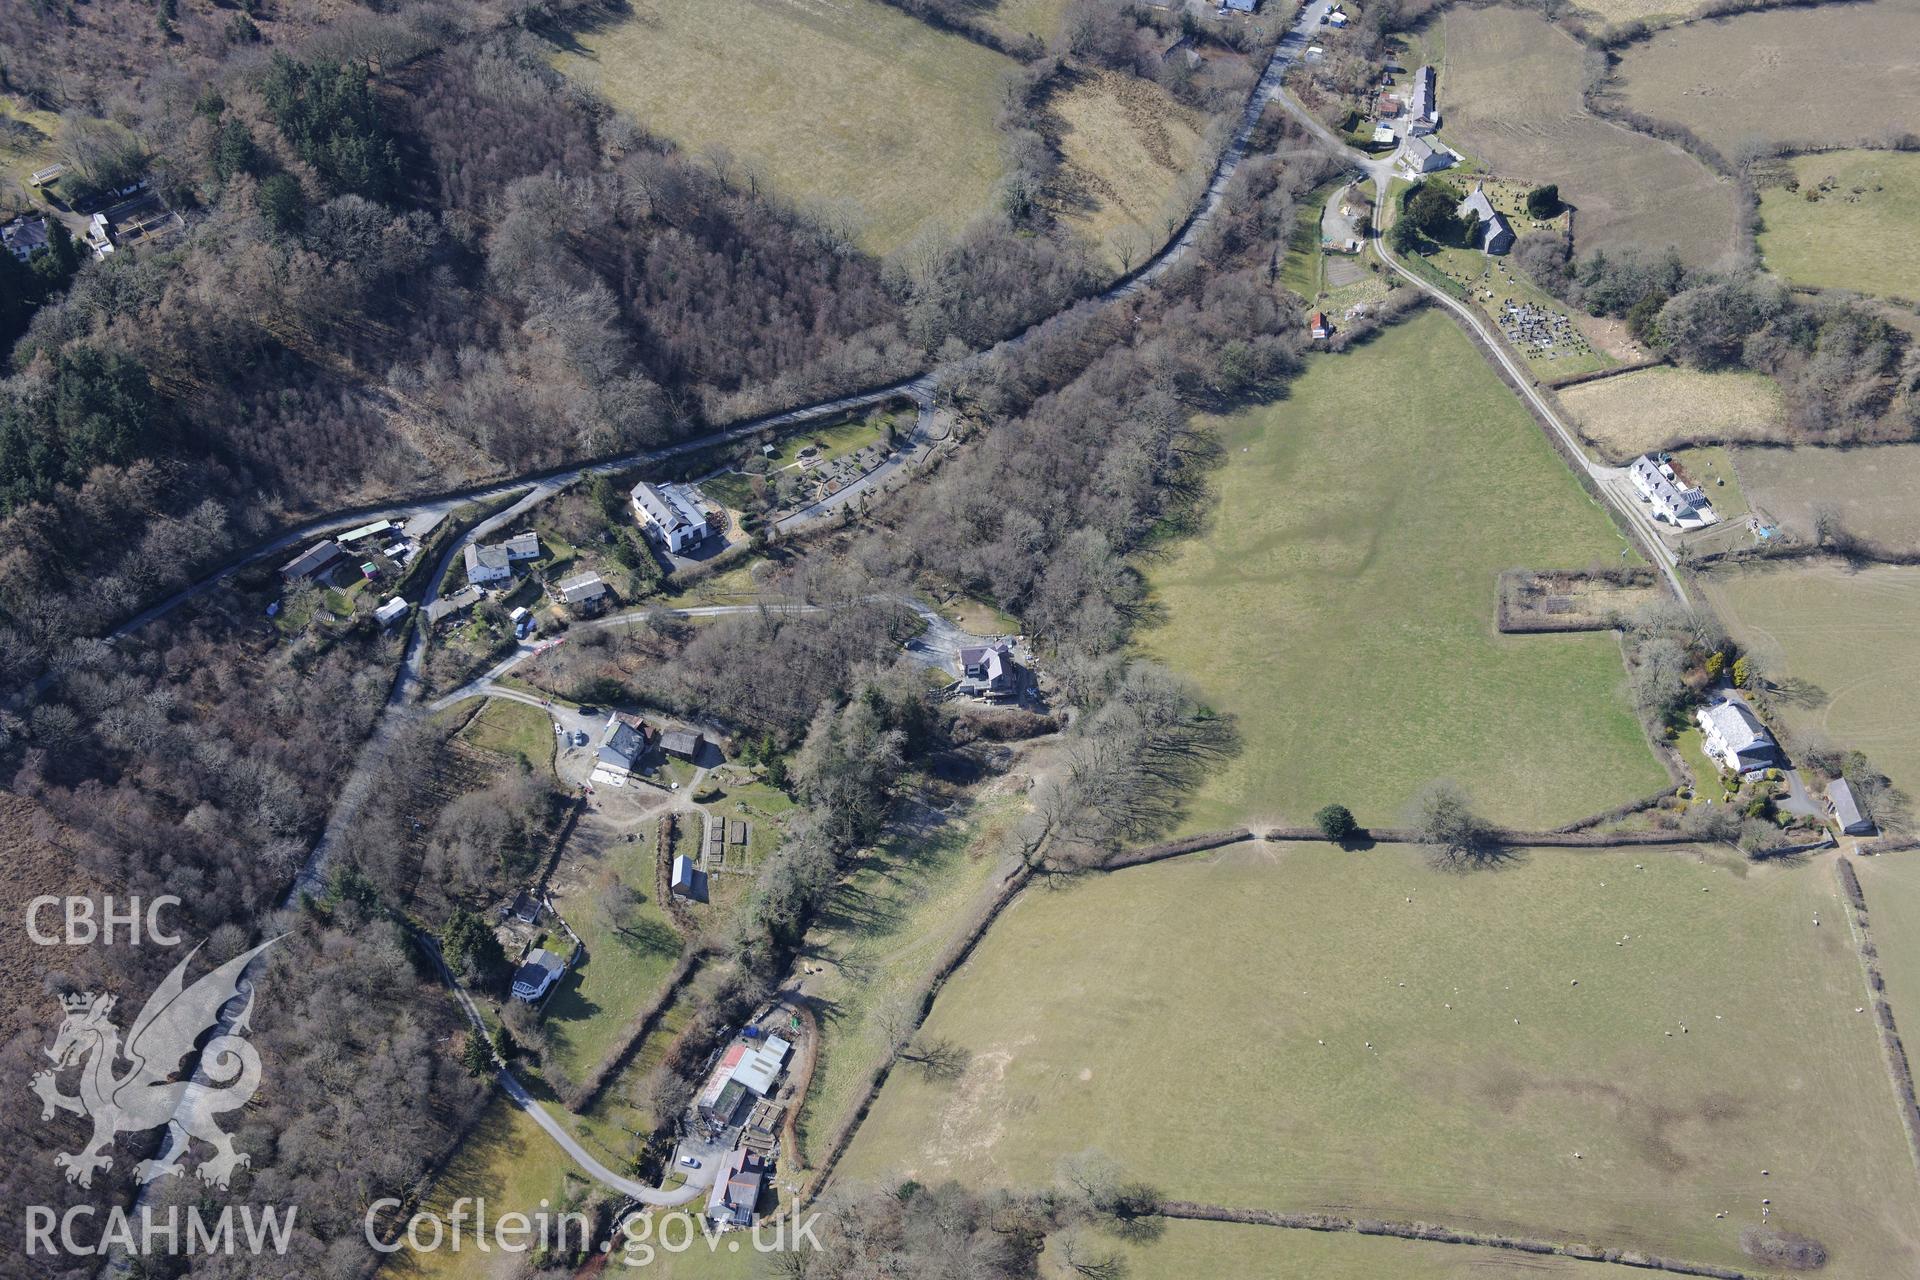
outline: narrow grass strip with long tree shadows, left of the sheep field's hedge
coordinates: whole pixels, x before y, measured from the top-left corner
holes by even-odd
[[[818,1163],[887,1054],[876,1013],[920,988],[998,885],[996,850],[1020,804],[1006,791],[943,816],[902,806],[806,935],[803,990],[820,1011],[820,1059],[799,1117]]]

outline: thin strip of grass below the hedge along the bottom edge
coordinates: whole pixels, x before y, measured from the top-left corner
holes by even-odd
[[[1238,1222],[1165,1222],[1140,1242],[1085,1238],[1094,1255],[1117,1255],[1127,1280],[1190,1280],[1192,1276],[1286,1276],[1302,1280],[1634,1280],[1632,1267],[1534,1257],[1500,1249],[1446,1245],[1384,1236],[1327,1236],[1319,1232],[1242,1226]],[[1041,1274],[1071,1280],[1062,1240],[1048,1245]]]

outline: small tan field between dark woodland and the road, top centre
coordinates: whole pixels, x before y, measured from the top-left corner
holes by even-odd
[[[1117,71],[1075,77],[1046,106],[1064,161],[1054,184],[1062,221],[1114,271],[1137,265],[1206,180],[1206,119],[1152,81]]]

